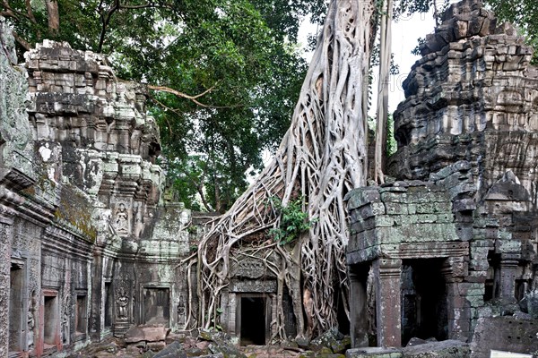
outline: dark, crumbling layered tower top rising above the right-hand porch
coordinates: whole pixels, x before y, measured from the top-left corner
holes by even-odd
[[[536,154],[528,150],[538,133],[533,49],[477,1],[452,5],[442,20],[404,81],[391,174],[427,179],[468,160],[481,175],[482,194],[509,168],[535,196]]]

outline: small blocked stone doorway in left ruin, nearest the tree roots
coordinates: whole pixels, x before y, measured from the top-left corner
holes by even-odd
[[[168,287],[143,289],[143,323],[162,324],[169,327],[170,290]]]

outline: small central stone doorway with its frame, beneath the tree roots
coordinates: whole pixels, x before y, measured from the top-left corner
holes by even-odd
[[[265,345],[271,317],[267,297],[261,294],[241,295],[238,306],[240,345]]]

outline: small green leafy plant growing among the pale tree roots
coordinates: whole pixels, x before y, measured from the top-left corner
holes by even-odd
[[[308,220],[308,213],[303,211],[304,198],[290,200],[283,206],[279,198],[273,198],[273,206],[281,216],[280,226],[269,230],[269,234],[279,245],[293,243],[299,235],[307,231],[316,220]]]

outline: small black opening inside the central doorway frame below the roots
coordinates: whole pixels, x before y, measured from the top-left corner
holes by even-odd
[[[265,345],[265,297],[241,297],[241,345]]]

